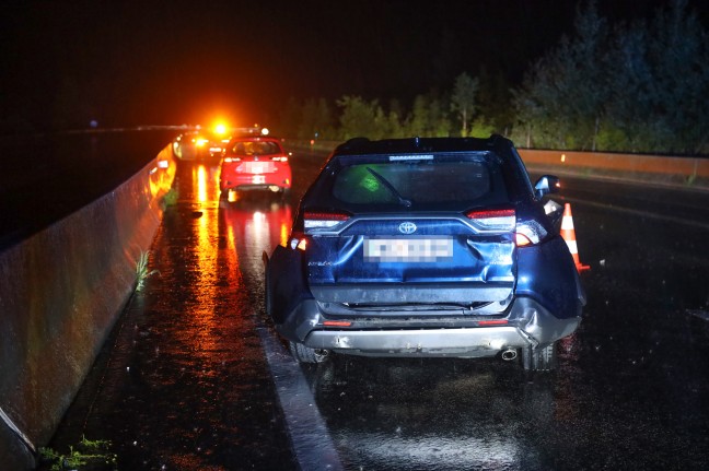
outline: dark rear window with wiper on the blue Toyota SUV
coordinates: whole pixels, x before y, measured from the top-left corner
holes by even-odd
[[[493,161],[469,154],[345,158],[332,192],[348,204],[475,203],[503,190]]]

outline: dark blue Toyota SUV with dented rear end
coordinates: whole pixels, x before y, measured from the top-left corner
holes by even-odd
[[[585,304],[561,213],[543,204],[558,182],[533,187],[499,136],[348,141],[288,245],[264,257],[266,311],[302,363],[336,352],[553,369]]]

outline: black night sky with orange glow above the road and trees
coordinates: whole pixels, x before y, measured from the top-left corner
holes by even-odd
[[[614,22],[665,4],[600,0]],[[690,1],[690,5],[693,2]],[[519,83],[571,0],[8,1],[0,129],[268,122],[289,97],[396,98],[481,67]]]

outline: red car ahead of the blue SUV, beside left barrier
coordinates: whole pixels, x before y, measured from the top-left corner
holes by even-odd
[[[224,198],[230,191],[247,190],[287,196],[291,188],[288,153],[276,138],[233,138],[222,156],[219,187]]]

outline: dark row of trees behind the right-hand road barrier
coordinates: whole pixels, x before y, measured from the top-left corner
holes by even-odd
[[[291,98],[279,128],[299,139],[510,137],[537,149],[709,154],[709,35],[687,0],[612,25],[579,4],[571,36],[510,86],[486,69],[403,105],[345,95]]]

